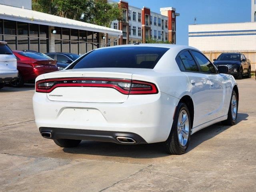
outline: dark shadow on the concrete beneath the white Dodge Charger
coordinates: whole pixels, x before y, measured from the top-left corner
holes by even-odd
[[[237,123],[247,120],[248,114],[239,113]],[[227,130],[230,126],[223,126],[217,123],[208,126],[191,136],[190,145],[186,152],[196,148],[202,142],[213,138],[221,132]],[[168,156],[164,143],[141,144],[141,145],[120,145],[108,142],[82,141],[76,148],[63,148],[66,153],[87,154],[97,156],[114,156],[129,158],[158,158]]]

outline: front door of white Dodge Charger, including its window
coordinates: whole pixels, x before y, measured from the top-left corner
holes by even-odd
[[[191,50],[200,71],[204,73],[210,80],[210,97],[208,97],[209,120],[214,120],[226,115],[226,108],[229,106],[227,100],[228,84],[224,74],[219,74],[218,70],[204,54]]]

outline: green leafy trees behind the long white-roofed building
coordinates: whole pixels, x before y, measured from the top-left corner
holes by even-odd
[[[107,0],[32,0],[32,10],[60,17],[110,27],[113,20],[121,20],[122,8]]]

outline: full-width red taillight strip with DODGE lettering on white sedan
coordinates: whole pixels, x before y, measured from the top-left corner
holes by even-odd
[[[70,81],[70,80],[100,80],[100,81],[112,81],[112,82],[129,82],[131,84],[148,85],[150,88],[122,88],[115,84],[93,84],[93,83],[57,83],[48,88],[45,86],[38,86],[40,83],[46,82],[58,82],[58,81]],[[50,93],[58,87],[102,87],[102,88],[114,88],[122,94],[157,94],[158,89],[156,85],[149,82],[128,80],[119,78],[51,78],[46,80],[39,80],[36,82],[36,92]]]

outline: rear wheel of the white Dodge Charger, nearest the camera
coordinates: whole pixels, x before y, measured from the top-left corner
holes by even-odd
[[[172,129],[164,143],[169,154],[180,155],[188,148],[190,142],[191,120],[188,107],[179,103],[174,115]]]

